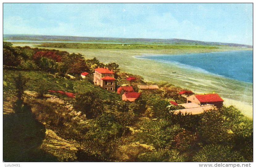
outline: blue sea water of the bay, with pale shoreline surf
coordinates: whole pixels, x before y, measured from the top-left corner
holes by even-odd
[[[213,73],[243,82],[253,82],[253,51],[227,51],[182,55],[144,56],[159,62]]]

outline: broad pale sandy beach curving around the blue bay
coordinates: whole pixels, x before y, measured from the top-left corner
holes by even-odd
[[[38,43],[14,43],[14,46],[31,46]],[[101,62],[116,62],[126,72],[143,76],[148,81],[168,81],[176,86],[188,88],[196,93],[219,93],[225,98],[225,105],[234,105],[244,115],[252,118],[252,89],[251,83],[239,82],[211,74],[204,74],[193,70],[134,58],[135,55],[146,54],[184,54],[199,52],[217,52],[229,50],[248,50],[241,47],[218,46],[218,48],[172,48],[172,49],[98,49],[98,48],[49,48],[64,50],[69,53],[81,53],[86,58],[97,57]],[[175,74],[171,72],[176,72]],[[229,94],[230,93],[230,94]]]

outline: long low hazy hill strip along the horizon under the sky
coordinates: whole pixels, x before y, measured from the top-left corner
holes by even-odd
[[[72,41],[72,42],[115,42],[115,43],[147,43],[147,44],[175,44],[175,45],[204,45],[204,46],[240,46],[252,48],[253,46],[235,43],[202,42],[185,39],[151,39],[151,38],[110,38],[110,37],[78,37],[78,36],[50,36],[50,35],[23,35],[4,34],[3,40],[28,41]]]

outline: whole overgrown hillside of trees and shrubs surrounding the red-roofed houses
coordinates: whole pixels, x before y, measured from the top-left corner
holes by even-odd
[[[113,69],[118,85],[137,90],[141,76],[115,62],[65,51],[3,45],[5,162],[238,162],[253,160],[253,123],[233,106],[200,115],[173,114],[186,100],[167,82],[135,102],[82,80],[81,72]],[[69,78],[67,74],[74,76]],[[135,82],[127,82],[127,76]],[[75,98],[48,90],[75,94]]]

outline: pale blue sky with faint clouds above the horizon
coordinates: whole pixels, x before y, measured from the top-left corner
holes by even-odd
[[[253,44],[252,3],[4,3],[4,34]]]

